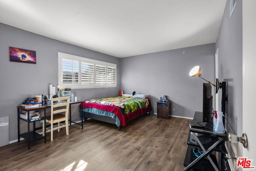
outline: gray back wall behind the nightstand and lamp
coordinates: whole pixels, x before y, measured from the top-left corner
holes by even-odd
[[[172,115],[193,117],[195,111],[202,111],[205,81],[190,77],[189,72],[199,65],[202,78],[214,83],[214,63],[214,43],[121,58],[121,88],[128,94],[150,94],[155,113],[156,102],[168,95]]]

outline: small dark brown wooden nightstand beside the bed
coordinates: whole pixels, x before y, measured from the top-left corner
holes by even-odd
[[[171,101],[158,101],[157,102],[157,117],[169,119],[172,115]]]

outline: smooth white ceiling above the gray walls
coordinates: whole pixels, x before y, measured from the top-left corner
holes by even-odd
[[[118,58],[216,41],[226,0],[0,0],[0,22]]]

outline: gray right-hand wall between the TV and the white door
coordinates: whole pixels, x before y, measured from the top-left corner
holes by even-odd
[[[216,49],[219,51],[219,80],[227,82],[226,119],[233,133],[242,135],[242,1],[230,18],[227,1]]]

